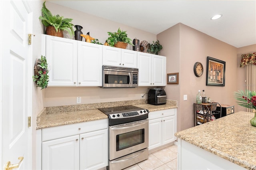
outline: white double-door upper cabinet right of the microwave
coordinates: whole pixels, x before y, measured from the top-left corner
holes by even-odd
[[[138,52],[138,86],[166,85],[166,57]]]

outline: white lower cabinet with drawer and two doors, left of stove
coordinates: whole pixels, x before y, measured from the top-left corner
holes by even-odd
[[[41,146],[42,170],[104,168],[108,166],[108,119],[44,128]]]

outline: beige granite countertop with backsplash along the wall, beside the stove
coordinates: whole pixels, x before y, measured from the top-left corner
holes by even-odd
[[[166,101],[166,105],[149,105],[144,100],[93,103],[83,105],[68,105],[45,107],[36,118],[36,129],[108,119],[108,116],[98,108],[134,105],[151,111],[177,108],[177,101]]]

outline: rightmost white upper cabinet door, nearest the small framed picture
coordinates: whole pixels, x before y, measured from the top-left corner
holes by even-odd
[[[152,54],[152,85],[166,85],[166,57]]]

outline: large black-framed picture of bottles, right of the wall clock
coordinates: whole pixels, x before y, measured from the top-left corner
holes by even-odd
[[[226,62],[207,57],[206,85],[225,86]]]

